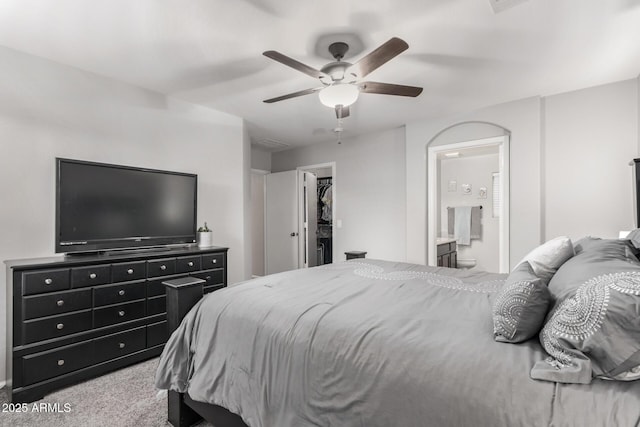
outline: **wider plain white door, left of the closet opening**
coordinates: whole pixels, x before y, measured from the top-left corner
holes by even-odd
[[[298,268],[297,171],[266,176],[266,274]]]

